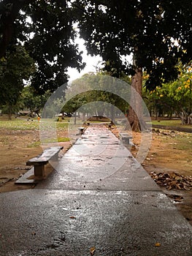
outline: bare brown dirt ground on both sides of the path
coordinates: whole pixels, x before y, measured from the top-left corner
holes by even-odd
[[[115,129],[113,129],[115,132]],[[116,135],[118,132],[116,132]],[[145,161],[142,163],[148,173],[172,173],[173,171],[183,176],[192,176],[192,154],[191,151],[177,149],[172,142],[173,132],[153,131],[153,138],[150,150]],[[66,137],[65,132],[59,135]],[[186,135],[187,136],[187,135]],[[0,192],[9,192],[20,189],[30,189],[34,185],[16,185],[15,181],[22,176],[30,167],[26,166],[26,161],[31,157],[36,157],[42,152],[41,146],[37,146],[39,141],[39,131],[33,130],[7,130],[1,129],[0,133]],[[134,144],[131,152],[137,155],[140,143],[140,134],[134,133]],[[65,152],[70,146],[70,142],[61,143]],[[191,184],[192,186],[192,184]],[[191,190],[172,189],[161,187],[167,196],[192,225],[192,187]],[[179,200],[174,200],[175,196]]]

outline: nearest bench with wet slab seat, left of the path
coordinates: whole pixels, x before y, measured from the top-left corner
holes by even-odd
[[[58,153],[64,147],[50,147],[45,148],[45,151],[39,156],[29,159],[26,165],[34,165],[34,176],[38,178],[43,178],[45,176],[45,165],[50,160],[58,161]]]

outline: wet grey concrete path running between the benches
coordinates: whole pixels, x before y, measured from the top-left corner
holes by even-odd
[[[89,127],[45,181],[0,202],[1,256],[192,255],[191,225],[106,127]]]

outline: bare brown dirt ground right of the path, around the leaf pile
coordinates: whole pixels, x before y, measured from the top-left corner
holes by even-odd
[[[131,149],[131,153],[134,157],[137,156],[140,136],[138,133],[134,133],[133,136],[136,147]],[[147,170],[147,173],[177,173],[183,178],[189,177],[189,189],[166,189],[165,186],[161,186],[161,189],[192,225],[192,146],[185,148],[185,143],[184,145],[181,143],[182,146],[180,146],[180,140],[175,140],[177,137],[185,138],[189,143],[192,143],[191,134],[153,129],[150,150],[142,166]]]

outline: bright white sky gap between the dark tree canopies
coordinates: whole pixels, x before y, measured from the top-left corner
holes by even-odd
[[[98,66],[99,61],[102,61],[101,57],[99,56],[88,56],[87,50],[85,49],[85,45],[83,45],[83,42],[83,39],[77,39],[77,44],[79,45],[80,50],[83,51],[82,62],[85,62],[86,66],[80,73],[77,71],[77,69],[69,67],[69,71],[67,72],[67,74],[70,76],[69,81],[80,78],[82,75],[88,72],[96,72],[96,66]]]

